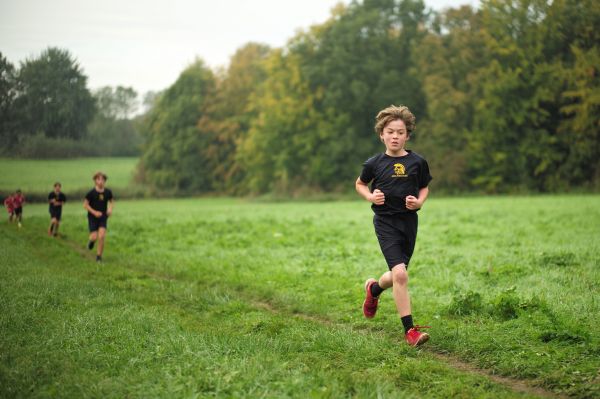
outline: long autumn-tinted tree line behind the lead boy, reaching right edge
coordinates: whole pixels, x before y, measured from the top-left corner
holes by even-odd
[[[339,5],[283,48],[201,60],[156,100],[140,179],[156,190],[346,191],[381,151],[374,116],[417,116],[410,147],[445,192],[597,189],[600,3]]]

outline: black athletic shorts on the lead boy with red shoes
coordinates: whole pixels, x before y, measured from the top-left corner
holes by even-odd
[[[390,270],[400,263],[408,268],[417,241],[418,224],[416,212],[373,216],[375,234]]]

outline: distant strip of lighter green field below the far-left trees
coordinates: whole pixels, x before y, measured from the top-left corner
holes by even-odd
[[[93,186],[92,175],[97,170],[108,175],[111,188],[124,189],[131,185],[136,163],[137,158],[0,158],[0,191],[11,192],[21,188],[25,195],[48,194],[54,182],[60,181],[65,192],[82,192]]]

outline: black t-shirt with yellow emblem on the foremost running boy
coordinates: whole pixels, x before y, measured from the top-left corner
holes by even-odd
[[[371,192],[378,188],[385,194],[383,205],[371,206],[378,215],[416,212],[406,209],[406,197],[418,197],[419,190],[431,181],[427,161],[417,153],[407,152],[402,157],[378,154],[363,164],[360,180],[372,182]]]

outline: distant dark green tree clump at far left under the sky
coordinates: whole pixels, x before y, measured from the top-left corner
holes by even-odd
[[[139,155],[130,87],[87,87],[68,50],[49,47],[12,65],[0,53],[0,155],[29,158]]]

